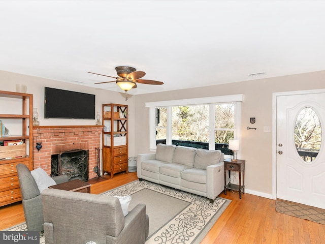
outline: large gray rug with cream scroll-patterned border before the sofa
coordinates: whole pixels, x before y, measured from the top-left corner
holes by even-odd
[[[217,197],[210,203],[206,197],[146,180],[136,180],[102,195],[132,195],[129,210],[138,203],[146,204],[146,214],[149,216],[146,244],[199,244],[231,202]],[[27,231],[27,228],[22,223],[6,231]],[[45,244],[44,236],[40,236],[40,244]]]

